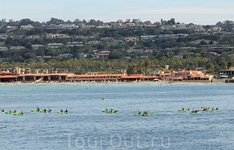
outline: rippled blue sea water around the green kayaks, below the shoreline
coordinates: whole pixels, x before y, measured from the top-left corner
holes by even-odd
[[[0,85],[0,108],[27,114],[0,113],[0,149],[234,149],[233,96],[234,84]],[[36,107],[52,113],[30,112]],[[221,111],[191,115],[181,107]],[[138,110],[156,115],[136,117]]]

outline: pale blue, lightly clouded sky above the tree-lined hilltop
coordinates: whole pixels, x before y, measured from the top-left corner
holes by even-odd
[[[214,25],[234,21],[234,0],[0,0],[0,19],[46,22],[95,19],[104,22],[140,19]]]

